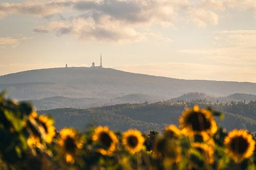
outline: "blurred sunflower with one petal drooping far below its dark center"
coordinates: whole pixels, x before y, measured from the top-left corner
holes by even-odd
[[[64,128],[60,131],[60,139],[58,140],[62,151],[65,153],[66,161],[74,163],[73,155],[77,149],[82,148],[82,142],[77,139],[77,132],[72,128]]]

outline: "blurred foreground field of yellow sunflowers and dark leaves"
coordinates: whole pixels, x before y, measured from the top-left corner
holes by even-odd
[[[50,116],[0,94],[0,169],[256,169],[255,137],[227,132],[220,112],[185,108],[162,132],[108,127],[57,132]]]

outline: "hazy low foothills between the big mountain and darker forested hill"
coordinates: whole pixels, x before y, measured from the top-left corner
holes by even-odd
[[[230,96],[236,96],[236,98],[230,99]],[[230,103],[238,102],[246,99],[246,103],[253,101],[253,98],[248,98],[248,96],[253,96],[251,94],[233,94],[227,97],[214,97],[205,93],[191,92],[183,94],[178,98],[173,98],[168,100],[169,102],[210,102],[210,103]],[[250,99],[250,100],[249,100]],[[161,101],[167,101],[164,96],[156,96],[149,94],[128,94],[114,99],[99,99],[99,98],[66,98],[63,96],[53,96],[51,98],[44,98],[39,100],[27,100],[26,102],[31,102],[37,110],[49,110],[57,108],[93,108],[101,106],[109,106],[124,103],[156,103]],[[200,102],[201,101],[201,102]]]

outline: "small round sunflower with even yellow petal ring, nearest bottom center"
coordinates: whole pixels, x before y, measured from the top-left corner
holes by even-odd
[[[130,153],[136,153],[143,149],[144,137],[138,130],[127,130],[123,133],[122,143],[124,148]]]

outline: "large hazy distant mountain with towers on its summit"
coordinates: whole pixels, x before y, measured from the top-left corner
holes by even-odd
[[[8,90],[17,100],[68,98],[114,99],[132,93],[165,96],[168,99],[188,93],[205,92],[226,96],[256,94],[256,84],[205,80],[180,80],[134,74],[112,68],[50,68],[18,72],[0,77],[0,91]]]

